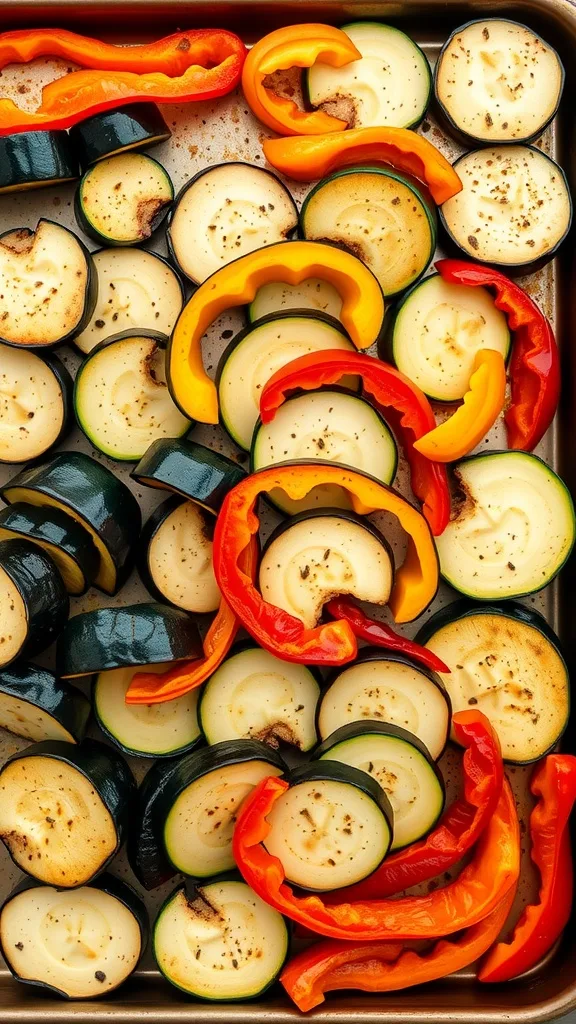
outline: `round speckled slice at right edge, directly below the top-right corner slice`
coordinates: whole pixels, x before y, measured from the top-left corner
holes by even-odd
[[[452,241],[480,263],[528,272],[551,259],[572,223],[562,168],[528,145],[493,145],[454,164],[462,190],[441,207]]]

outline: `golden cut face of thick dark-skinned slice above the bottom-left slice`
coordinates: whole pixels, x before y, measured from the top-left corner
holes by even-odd
[[[63,888],[91,879],[118,842],[92,782],[42,756],[13,761],[0,773],[0,837],[18,867]]]

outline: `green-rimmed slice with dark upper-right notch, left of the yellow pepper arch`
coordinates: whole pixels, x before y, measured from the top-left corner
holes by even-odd
[[[137,462],[159,437],[181,437],[192,423],[166,385],[168,338],[122,331],[100,341],[74,382],[78,426],[109,459]]]

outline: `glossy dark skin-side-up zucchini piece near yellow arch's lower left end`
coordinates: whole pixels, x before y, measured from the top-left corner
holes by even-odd
[[[130,476],[148,487],[173,490],[208,512],[217,512],[246,470],[197,441],[166,437],[150,445]]]

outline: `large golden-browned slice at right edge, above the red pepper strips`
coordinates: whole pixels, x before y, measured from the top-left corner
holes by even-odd
[[[456,601],[417,640],[451,670],[442,679],[454,711],[475,707],[490,719],[505,761],[528,764],[556,746],[568,724],[570,676],[559,638],[537,611],[517,601]]]

